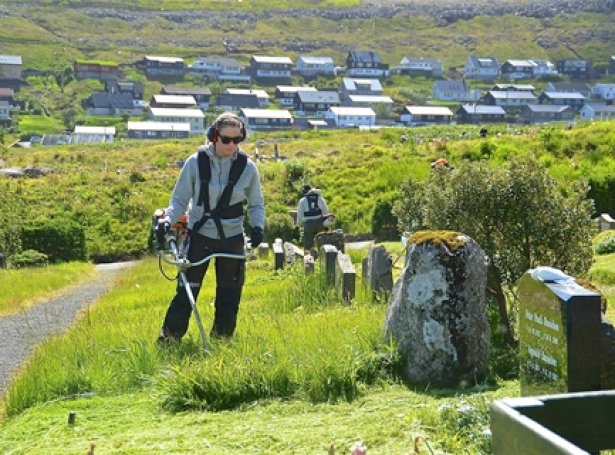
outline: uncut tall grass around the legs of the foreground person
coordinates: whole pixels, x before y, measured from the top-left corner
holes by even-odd
[[[168,270],[172,273],[173,270]],[[213,274],[199,297],[206,330],[213,319]],[[41,402],[153,386],[171,410],[229,409],[268,397],[352,400],[389,377],[397,356],[384,344],[385,306],[358,292],[352,305],[320,289],[317,272],[274,272],[249,263],[236,336],[201,350],[194,321],[177,348],[159,348],[174,282],[149,259],[84,312],[67,333],[45,341],[12,382],[8,415]]]

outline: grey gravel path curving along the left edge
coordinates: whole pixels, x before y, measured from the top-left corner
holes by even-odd
[[[96,302],[113,287],[122,269],[134,263],[99,264],[96,274],[78,286],[29,310],[0,318],[0,395],[6,390],[11,373],[48,336],[64,331],[80,310]]]

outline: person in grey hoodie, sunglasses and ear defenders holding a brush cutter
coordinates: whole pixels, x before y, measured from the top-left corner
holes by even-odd
[[[207,130],[208,141],[190,155],[179,174],[165,210],[164,231],[177,223],[190,205],[188,260],[198,262],[213,253],[244,254],[243,205],[251,225],[252,247],[263,241],[265,205],[258,170],[239,149],[246,138],[243,122],[232,113],[221,114]],[[190,202],[192,202],[190,204]],[[216,297],[212,337],[231,337],[237,323],[245,261],[216,258]],[[209,262],[186,272],[195,300]],[[178,282],[158,342],[180,340],[188,330],[191,306]]]

